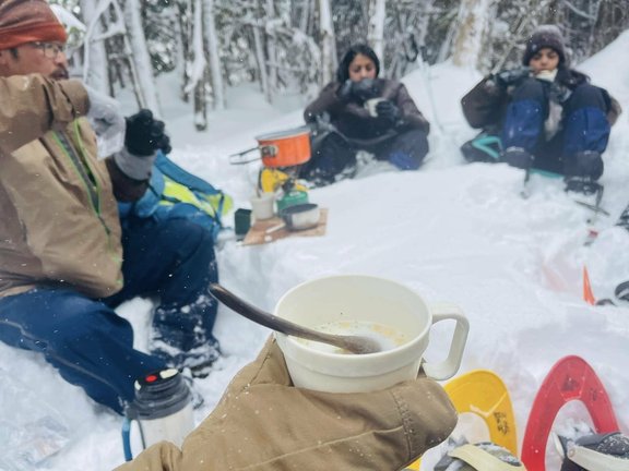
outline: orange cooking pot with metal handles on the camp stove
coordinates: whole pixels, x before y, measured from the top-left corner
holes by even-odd
[[[234,154],[238,157],[232,164],[247,164],[253,160],[244,160],[242,157],[253,150],[260,149],[262,164],[265,167],[294,167],[310,160],[310,128],[301,126],[286,131],[277,131],[256,136],[258,146]]]

